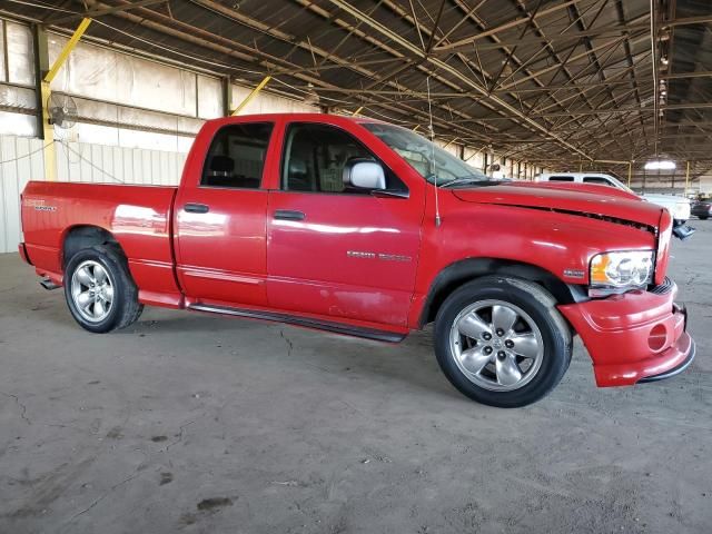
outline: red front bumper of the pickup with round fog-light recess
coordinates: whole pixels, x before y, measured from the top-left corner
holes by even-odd
[[[630,291],[560,306],[586,346],[600,387],[669,378],[694,358],[686,312],[674,304],[678,286]]]

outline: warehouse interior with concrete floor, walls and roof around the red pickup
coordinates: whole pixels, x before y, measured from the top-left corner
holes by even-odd
[[[91,335],[18,254],[29,181],[177,186],[206,121],[255,113],[704,202],[708,1],[4,0],[0,52],[1,532],[708,532],[706,216],[671,249],[685,373],[596,388],[576,338],[561,386],[507,411],[449,387],[432,326],[388,345],[147,307]]]

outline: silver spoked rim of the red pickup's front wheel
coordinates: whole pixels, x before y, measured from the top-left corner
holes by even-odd
[[[503,300],[479,300],[455,317],[451,352],[469,382],[492,392],[511,392],[538,373],[544,340],[522,308]]]

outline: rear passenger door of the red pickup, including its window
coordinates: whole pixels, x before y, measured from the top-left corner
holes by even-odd
[[[266,304],[268,192],[261,182],[273,130],[273,122],[216,127],[206,132],[204,165],[184,177],[175,204],[177,271],[194,301]]]

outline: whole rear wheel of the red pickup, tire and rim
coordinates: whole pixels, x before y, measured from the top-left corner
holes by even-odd
[[[129,326],[144,310],[126,258],[107,246],[71,257],[65,269],[65,297],[75,320],[98,334]]]

